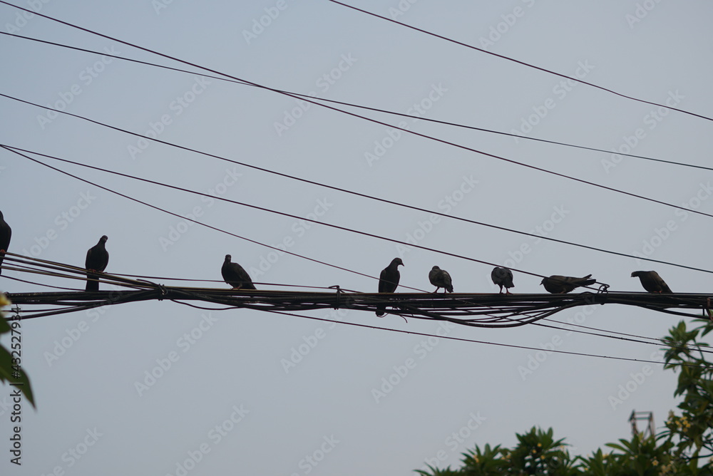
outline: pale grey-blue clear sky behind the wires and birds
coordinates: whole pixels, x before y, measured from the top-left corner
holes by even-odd
[[[377,19],[330,1],[97,3],[12,0],[69,24],[270,88],[345,106],[373,123],[216,78],[154,53],[0,4],[0,29],[195,73],[0,37],[0,92],[92,120],[365,195],[486,224],[713,269],[705,118],[568,82],[552,73]],[[704,1],[372,1],[350,5],[635,98],[711,117],[713,6]],[[180,150],[0,98],[1,143],[298,217],[548,276],[593,274],[642,291],[655,269],[673,291],[704,293],[709,274],[458,222]],[[428,123],[448,121],[607,152]],[[388,124],[385,125],[384,123]],[[395,129],[432,136],[438,140]],[[444,143],[454,143],[456,147]],[[484,152],[484,153],[480,153]],[[489,154],[489,155],[486,155]],[[641,200],[492,157],[643,195]],[[140,205],[0,151],[0,209],[10,252],[83,266],[108,236],[109,273],[216,280],[225,254],[260,289],[278,284],[374,292],[401,257],[401,284],[433,291],[434,265],[456,292],[493,293],[492,267],[190,195],[53,160],[97,185],[240,235]],[[687,210],[686,210],[687,209]],[[319,259],[371,277],[272,249]],[[81,281],[3,271],[6,292]],[[540,279],[515,271],[515,293]],[[180,281],[205,286],[204,281]],[[111,289],[102,285],[102,289]],[[401,288],[400,288],[401,289]],[[26,306],[31,311],[31,306]],[[22,363],[36,410],[22,404],[21,466],[11,464],[11,389],[0,388],[3,474],[411,475],[457,467],[475,445],[554,428],[573,454],[630,437],[632,410],[657,427],[677,404],[658,346],[556,328],[444,326],[360,311],[312,321],[168,301],[22,321]],[[585,306],[552,319],[658,338],[679,318],[633,306]],[[409,335],[341,323],[428,333]],[[443,336],[489,343],[453,341]],[[8,338],[2,343],[8,345]]]

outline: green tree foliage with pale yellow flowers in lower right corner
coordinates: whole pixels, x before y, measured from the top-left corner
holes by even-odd
[[[516,435],[512,448],[479,445],[463,453],[457,470],[416,470],[422,476],[541,475],[541,476],[713,476],[713,349],[700,341],[713,331],[713,321],[695,319],[688,330],[681,321],[662,339],[665,368],[677,372],[675,396],[682,397],[657,435],[641,434],[607,443],[608,452],[572,456],[564,438],[555,440],[552,428],[531,428]]]

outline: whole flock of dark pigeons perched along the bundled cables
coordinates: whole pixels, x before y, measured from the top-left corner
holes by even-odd
[[[0,212],[0,266],[2,265],[4,254],[9,247],[11,234],[12,229],[9,224],[5,222],[2,212]],[[98,274],[103,273],[109,263],[109,253],[106,251],[105,246],[107,239],[108,237],[104,235],[99,239],[97,244],[87,251],[86,260],[84,262],[84,268],[87,271],[86,291],[99,290]],[[379,293],[393,293],[396,291],[401,279],[399,266],[404,266],[404,262],[401,258],[394,258],[391,260],[389,266],[381,270],[381,274],[379,274]],[[257,289],[255,288],[255,284],[252,284],[252,279],[250,279],[250,275],[247,274],[247,271],[245,271],[240,264],[232,262],[230,254],[225,255],[225,262],[223,262],[220,271],[223,280],[225,280],[227,284],[230,284],[233,289]],[[634,271],[631,277],[638,277],[644,289],[651,293],[672,293],[669,286],[667,286],[656,271]],[[500,294],[503,293],[503,288],[505,288],[506,294],[510,294],[510,288],[515,287],[515,284],[513,284],[513,271],[508,268],[495,267],[491,272],[491,279],[494,284],[500,286]],[[438,289],[443,289],[443,293],[453,292],[451,275],[448,274],[448,271],[445,269],[434,266],[431,271],[429,271],[429,281],[436,286],[434,293],[437,293]],[[595,284],[595,282],[597,281],[592,278],[591,274],[582,278],[555,274],[543,278],[540,284],[545,286],[545,290],[551,294],[564,294],[581,286],[590,286]],[[385,309],[386,304],[379,304],[379,306],[377,306],[376,315],[384,316]]]

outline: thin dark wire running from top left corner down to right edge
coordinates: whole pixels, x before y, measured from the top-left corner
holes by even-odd
[[[29,11],[29,10],[27,10],[27,9],[22,8],[21,6],[16,6],[16,5],[10,4],[9,2],[4,1],[4,0],[0,0],[0,4],[6,4],[6,5],[9,5],[9,6],[13,6],[13,7],[16,8],[16,9],[21,9],[21,10]],[[118,43],[122,43],[122,44],[125,44],[125,45],[127,45],[127,46],[131,46],[132,48],[138,48],[138,49],[140,49],[140,50],[142,50],[142,51],[148,51],[149,53],[153,53],[153,54],[155,54],[155,55],[162,56],[163,58],[168,58],[168,59],[171,59],[171,60],[173,60],[173,61],[178,61],[178,62],[183,63],[183,64],[188,64],[189,66],[193,66],[193,67],[195,67],[195,68],[200,68],[200,69],[203,69],[203,70],[205,70],[205,71],[210,71],[211,73],[220,74],[221,76],[225,76],[225,77],[227,77],[227,78],[232,78],[232,79],[235,79],[235,80],[237,80],[237,81],[242,81],[242,82],[245,82],[245,83],[249,83],[249,84],[251,84],[251,85],[257,85],[257,83],[253,83],[252,81],[247,81],[247,80],[244,80],[244,79],[241,79],[241,78],[237,78],[237,77],[235,77],[235,76],[230,76],[229,74],[221,73],[220,71],[214,70],[214,69],[212,69],[212,68],[207,68],[207,67],[205,67],[205,66],[200,66],[200,65],[198,65],[198,64],[196,64],[196,63],[191,63],[190,61],[185,61],[185,60],[182,60],[182,59],[180,59],[180,58],[176,58],[175,56],[170,56],[170,55],[165,54],[165,53],[160,53],[160,52],[158,52],[158,51],[151,50],[150,48],[145,48],[144,46],[138,46],[138,45],[136,45],[136,44],[134,44],[134,43],[130,43],[130,42],[128,42],[128,41],[123,41],[123,40],[120,40],[120,39],[118,39],[118,38],[114,38],[114,37],[112,37],[112,36],[105,35],[105,34],[103,34],[103,33],[98,33],[97,31],[93,31],[93,30],[90,30],[90,29],[86,29],[86,28],[84,28],[83,26],[77,26],[77,25],[68,23],[67,21],[55,19],[55,18],[53,18],[53,17],[51,17],[51,16],[47,16],[47,15],[44,15],[44,14],[39,14],[39,13],[36,13],[36,12],[32,12],[32,13],[34,13],[34,14],[36,14],[36,15],[38,15],[38,16],[41,16],[41,17],[43,17],[43,18],[45,18],[45,19],[52,20],[52,21],[56,21],[57,23],[60,23],[60,24],[69,26],[69,27],[71,27],[71,28],[73,28],[73,29],[78,29],[78,30],[81,30],[81,31],[85,31],[85,32],[87,32],[87,33],[91,33],[91,34],[96,35],[96,36],[101,36],[102,38],[107,38],[107,39],[112,40],[112,41],[117,41]],[[260,85],[257,85],[257,86],[260,86]],[[529,164],[525,164],[525,163],[523,163],[523,162],[518,162],[518,161],[516,161],[516,160],[507,159],[506,157],[501,157],[501,156],[499,156],[499,155],[491,154],[491,153],[489,153],[489,152],[483,152],[482,150],[477,150],[477,149],[469,148],[469,147],[466,147],[465,145],[460,145],[460,144],[453,143],[453,142],[450,142],[450,141],[444,140],[444,139],[438,139],[438,138],[435,138],[435,137],[433,137],[433,136],[431,136],[431,135],[426,135],[426,134],[417,133],[417,132],[414,131],[414,130],[409,130],[409,129],[406,129],[406,128],[401,128],[401,127],[399,127],[399,126],[397,126],[397,125],[391,125],[391,124],[389,124],[389,123],[384,123],[383,121],[380,121],[380,120],[376,120],[376,119],[372,119],[372,118],[367,118],[366,116],[359,115],[359,114],[356,114],[356,113],[351,113],[351,112],[349,112],[349,111],[347,111],[347,110],[342,110],[342,109],[339,109],[339,108],[334,108],[334,107],[332,107],[332,106],[330,106],[330,105],[325,105],[325,104],[319,103],[319,102],[314,101],[314,100],[311,100],[311,99],[301,98],[300,96],[293,95],[293,94],[291,94],[291,93],[284,93],[282,90],[278,90],[278,89],[275,89],[275,88],[268,88],[267,86],[261,86],[261,87],[264,88],[264,89],[267,89],[267,90],[271,90],[272,92],[275,92],[275,93],[279,93],[279,94],[282,94],[282,95],[287,95],[287,96],[290,97],[290,98],[295,98],[295,99],[299,98],[299,99],[304,100],[304,101],[306,101],[306,102],[308,102],[308,103],[312,103],[312,104],[315,104],[315,105],[322,106],[322,108],[327,108],[327,109],[330,109],[330,110],[335,110],[335,111],[340,112],[340,113],[344,113],[344,114],[347,114],[347,115],[351,115],[351,116],[353,116],[353,117],[355,117],[355,118],[361,118],[361,119],[364,119],[364,120],[368,120],[368,121],[371,122],[371,123],[375,123],[375,124],[379,124],[379,125],[385,125],[386,127],[389,127],[389,128],[392,128],[392,129],[401,130],[402,132],[409,133],[409,134],[411,134],[411,135],[416,135],[416,136],[419,136],[419,137],[421,137],[421,138],[426,138],[426,139],[429,139],[429,140],[434,140],[434,141],[436,141],[436,142],[438,142],[438,143],[443,143],[443,144],[446,144],[446,145],[451,145],[451,146],[453,146],[453,147],[456,147],[456,148],[459,148],[459,149],[463,149],[463,150],[468,150],[468,151],[470,151],[470,152],[476,152],[476,153],[478,153],[478,154],[485,155],[486,157],[492,157],[492,158],[497,159],[497,160],[503,160],[504,162],[509,162],[509,163],[511,163],[511,164],[514,164],[514,165],[520,165],[521,167],[527,167],[527,168],[530,168],[530,169],[532,169],[532,170],[538,170],[538,171],[540,171],[540,172],[545,172],[545,173],[548,173],[548,174],[551,174],[551,175],[556,175],[556,176],[558,176],[558,177],[563,177],[563,178],[568,179],[568,180],[574,180],[575,182],[584,183],[584,184],[587,184],[587,185],[591,185],[591,186],[593,186],[593,187],[602,188],[602,189],[604,189],[604,190],[610,190],[611,192],[621,193],[621,194],[623,194],[623,195],[628,195],[628,196],[630,196],[630,197],[635,197],[635,198],[638,198],[638,199],[640,199],[640,200],[647,200],[647,201],[649,201],[649,202],[658,203],[659,205],[665,205],[665,206],[667,206],[667,207],[672,207],[672,208],[676,208],[676,209],[683,209],[683,210],[685,210],[685,211],[687,211],[687,212],[689,212],[689,213],[696,213],[696,214],[705,215],[705,216],[707,216],[707,217],[713,217],[713,214],[708,214],[708,213],[700,212],[699,210],[693,210],[693,209],[687,209],[687,208],[685,208],[685,207],[679,207],[678,205],[673,205],[673,204],[671,204],[671,203],[662,202],[661,200],[655,200],[655,199],[652,199],[652,198],[650,198],[650,197],[645,197],[645,196],[643,196],[643,195],[637,195],[637,194],[632,193],[632,192],[625,192],[625,191],[623,191],[623,190],[618,190],[618,189],[615,189],[615,188],[613,188],[613,187],[607,187],[607,186],[605,186],[605,185],[597,184],[597,183],[595,183],[595,182],[590,182],[590,181],[588,181],[588,180],[583,180],[583,179],[576,178],[576,177],[570,177],[569,175],[561,174],[561,173],[559,173],[559,172],[554,172],[554,171],[552,171],[552,170],[548,170],[548,169],[545,169],[545,168],[542,168],[542,167],[535,167],[534,165],[529,165]]]

